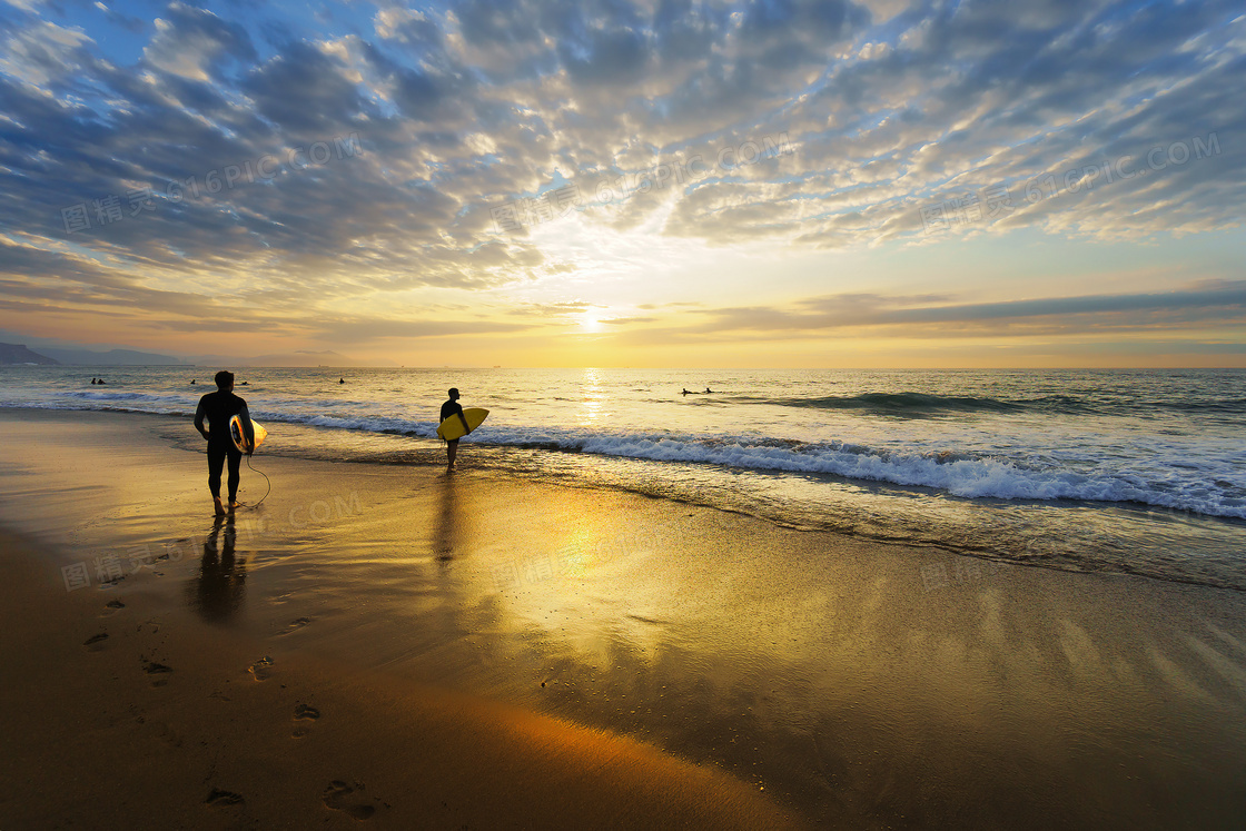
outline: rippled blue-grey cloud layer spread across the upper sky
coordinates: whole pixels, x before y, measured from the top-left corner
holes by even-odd
[[[556,183],[584,223],[810,247],[928,242],[923,209],[988,188],[1008,202],[941,233],[1200,232],[1240,218],[1246,184],[1231,1],[465,0],[315,19],[172,2],[147,21],[26,0],[0,21],[15,308],[176,321],[245,299],[265,325],[359,334],[375,309],[333,310],[361,295],[569,268],[491,213]],[[792,152],[714,164],[780,135]],[[1171,158],[1195,140],[1206,153]],[[713,171],[594,198],[694,156]]]

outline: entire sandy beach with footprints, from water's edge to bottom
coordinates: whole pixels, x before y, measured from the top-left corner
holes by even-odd
[[[272,495],[218,523],[186,420],[0,427],[29,541],[0,827],[1246,819],[1240,593],[512,481],[470,445],[452,476],[427,442],[260,453]]]

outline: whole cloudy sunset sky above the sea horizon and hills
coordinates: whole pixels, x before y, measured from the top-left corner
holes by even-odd
[[[0,331],[1246,366],[1246,9],[0,0]]]

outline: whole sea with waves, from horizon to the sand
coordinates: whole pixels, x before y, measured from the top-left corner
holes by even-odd
[[[189,420],[213,371],[6,366],[0,406]],[[1246,370],[326,368],[242,369],[238,382],[270,432],[260,470],[268,453],[439,463],[437,412],[457,386],[490,410],[460,466],[1246,589]],[[189,421],[163,439],[202,445]]]

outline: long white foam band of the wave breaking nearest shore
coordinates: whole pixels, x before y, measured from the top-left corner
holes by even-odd
[[[198,394],[110,390],[50,391],[9,406],[128,410],[189,415]],[[334,430],[436,436],[436,422],[402,417],[401,405],[341,400],[265,399],[253,415]],[[709,463],[756,471],[827,473],[854,480],[930,487],[967,498],[1089,500],[1139,502],[1209,516],[1246,518],[1246,465],[1240,451],[1196,439],[1146,447],[1121,445],[1109,452],[1085,440],[1069,450],[1072,436],[1017,434],[998,453],[983,452],[982,436],[930,434],[863,441],[800,444],[759,435],[663,435],[592,429],[548,429],[486,422],[468,441],[486,445],[558,449],[672,463]],[[974,446],[973,441],[977,441]],[[1118,439],[1119,441],[1119,439]],[[873,442],[870,446],[868,442]]]

